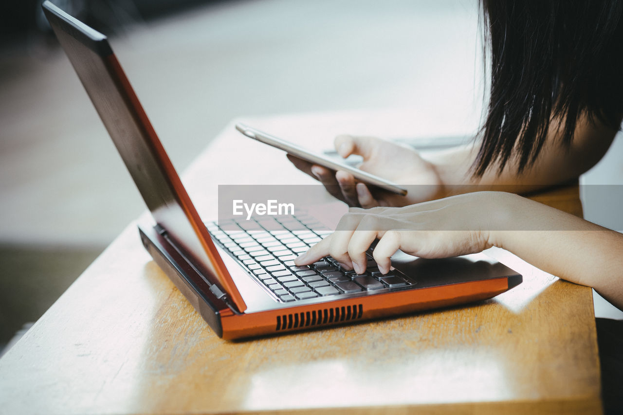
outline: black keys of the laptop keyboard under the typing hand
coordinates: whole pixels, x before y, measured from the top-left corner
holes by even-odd
[[[399,272],[381,274],[369,254],[364,274],[343,269],[331,257],[295,265],[298,255],[331,234],[310,216],[267,216],[206,226],[221,247],[282,302],[412,285]]]

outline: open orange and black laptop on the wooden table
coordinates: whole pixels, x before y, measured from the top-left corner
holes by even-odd
[[[50,1],[45,16],[151,212],[141,241],[214,332],[226,340],[386,318],[492,298],[521,275],[485,254],[427,260],[397,254],[395,270],[293,259],[328,232],[312,216],[204,222],[108,44]],[[216,203],[215,195],[215,203]]]

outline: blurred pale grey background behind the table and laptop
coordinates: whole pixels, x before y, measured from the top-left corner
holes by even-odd
[[[476,0],[55,4],[111,37],[178,171],[240,116],[413,108],[452,118],[466,135],[480,120]],[[4,8],[0,350],[144,209],[40,1]],[[623,184],[622,166],[617,137],[583,183]],[[599,221],[603,201],[583,203]],[[597,314],[622,318],[600,304]]]

